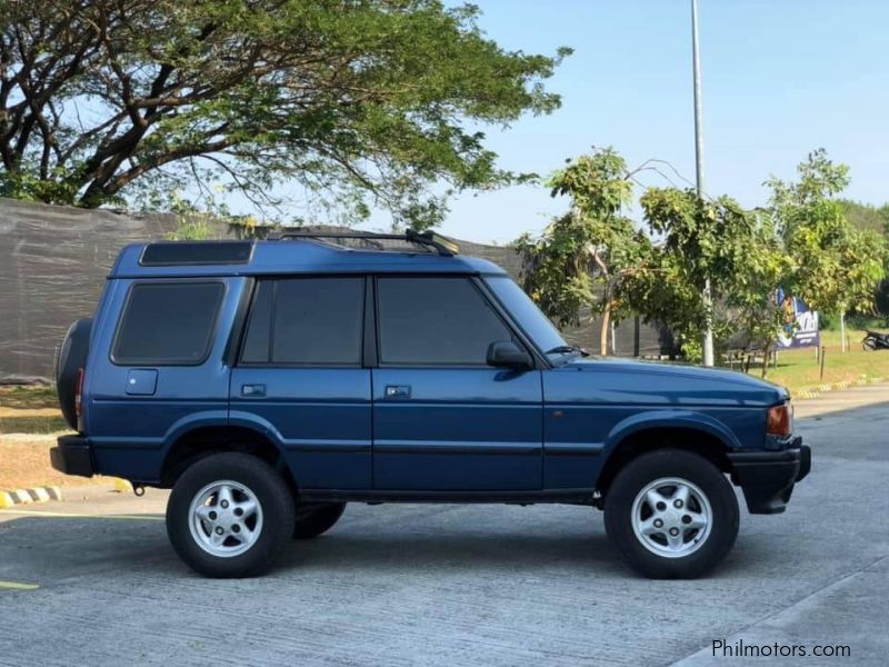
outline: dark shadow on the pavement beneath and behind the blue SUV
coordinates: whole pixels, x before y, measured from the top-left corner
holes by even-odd
[[[344,520],[318,538],[293,540],[284,547],[274,571],[539,574],[579,567],[603,574],[628,571],[601,529],[579,534],[571,526],[566,535],[553,526],[551,532],[541,532],[538,527],[533,535],[520,528],[488,534],[482,529],[441,530],[434,520],[424,525],[416,518],[399,525],[401,519],[393,517],[392,524],[382,529],[361,519]],[[565,519],[559,522],[567,525]],[[0,578],[37,581],[111,570],[156,575],[188,571],[173,552],[162,521],[126,517],[27,516],[0,522],[0,563],[4,565]]]

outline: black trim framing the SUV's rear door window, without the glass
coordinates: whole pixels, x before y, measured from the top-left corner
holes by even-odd
[[[339,279],[351,278],[353,280],[358,280],[361,282],[361,289],[363,290],[361,295],[361,313],[359,316],[360,332],[359,332],[358,361],[357,362],[352,361],[297,362],[297,361],[272,360],[272,350],[274,349],[274,315],[278,305],[278,283],[281,280],[327,280],[334,278]],[[266,361],[244,361],[243,349],[247,344],[247,337],[250,334],[250,323],[252,322],[253,319],[253,308],[256,306],[256,300],[259,297],[259,290],[261,289],[264,282],[270,282],[272,285],[268,357]],[[244,318],[243,322],[243,329],[241,334],[240,345],[238,348],[236,367],[238,368],[367,368],[367,365],[364,362],[366,359],[364,339],[367,336],[368,289],[369,289],[368,276],[363,273],[302,273],[302,275],[284,273],[274,276],[261,276],[261,277],[258,276],[253,286],[253,295],[250,298],[250,308],[247,311],[247,317]]]

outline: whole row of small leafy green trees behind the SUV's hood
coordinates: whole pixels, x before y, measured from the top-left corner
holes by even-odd
[[[787,323],[779,287],[826,312],[870,308],[886,251],[877,235],[846,220],[833,197],[848,185],[848,169],[825,151],[800,165],[799,180],[769,181],[766,210],[649,188],[640,198],[648,236],[621,212],[632,173],[611,149],[569,162],[548,185],[553,196],[570,197],[571,210],[541,238],[518,242],[526,289],[547,315],[560,325],[578,323],[587,306],[605,316],[602,354],[609,317],[630,312],[667,325],[692,359],[708,321],[721,349],[768,350]],[[708,278],[712,303],[703,298]]]

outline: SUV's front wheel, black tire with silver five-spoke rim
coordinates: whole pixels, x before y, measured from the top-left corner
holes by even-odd
[[[652,499],[663,507],[653,507]],[[731,550],[739,521],[738,499],[726,476],[703,457],[679,449],[633,459],[606,496],[609,540],[633,569],[655,579],[708,573]]]

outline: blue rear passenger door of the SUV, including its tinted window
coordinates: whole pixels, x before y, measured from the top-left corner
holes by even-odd
[[[268,432],[303,489],[371,487],[363,276],[258,281],[231,374],[232,425]]]

